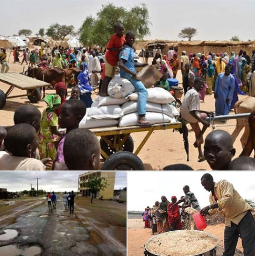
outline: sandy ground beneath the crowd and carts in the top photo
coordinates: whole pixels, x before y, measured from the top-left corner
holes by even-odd
[[[139,51],[138,51],[139,52]],[[7,51],[7,56],[9,56],[9,52]],[[152,58],[149,59],[149,63],[151,63]],[[9,72],[22,72],[24,64],[13,64],[13,56],[10,57],[10,70]],[[25,70],[27,66],[25,67]],[[177,73],[177,79],[182,82],[182,75],[181,71]],[[0,89],[4,92],[7,91],[9,85],[6,85],[0,82]],[[53,90],[46,90],[46,93],[52,93]],[[69,94],[71,90],[68,90]],[[21,91],[20,89],[14,88],[13,92],[11,92],[10,96],[21,95],[25,94],[25,91]],[[97,97],[96,94],[92,95],[92,98],[95,99]],[[239,95],[239,99],[243,99],[245,96]],[[23,104],[32,104],[28,100],[27,96],[20,96],[17,98],[7,99],[6,106],[0,110],[0,125],[1,126],[8,126],[13,125],[13,116],[14,111],[18,107]],[[43,112],[43,109],[46,107],[46,103],[41,100],[37,103],[34,103],[38,109]],[[200,108],[203,110],[214,111],[214,98],[213,95],[205,96],[205,102],[201,102]],[[234,112],[231,111],[230,114]],[[216,129],[224,129],[230,134],[234,131],[236,121],[229,120],[226,124],[217,123],[215,125]],[[186,162],[186,153],[184,150],[183,145],[183,137],[178,132],[173,130],[160,130],[155,131],[150,136],[149,140],[146,142],[144,147],[142,148],[141,152],[139,153],[139,157],[142,159],[143,163],[151,164],[153,169],[162,169],[164,166],[169,164],[189,164],[194,170],[210,170],[209,165],[205,162],[198,163],[198,150],[193,147],[193,142],[195,142],[194,133],[191,131],[191,127],[189,128],[189,152],[190,152],[190,161]],[[205,132],[205,136],[212,131],[212,128],[208,128]],[[241,132],[242,134],[242,132]],[[133,133],[132,137],[135,142],[135,149],[139,146],[142,142],[142,139],[146,135],[146,132],[139,132]],[[236,149],[235,157],[239,156],[242,151],[241,142],[240,142],[241,135],[237,137],[236,142],[234,143],[234,147]],[[134,149],[134,151],[135,151]]]

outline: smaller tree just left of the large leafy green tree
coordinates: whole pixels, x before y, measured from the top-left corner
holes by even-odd
[[[46,35],[51,36],[54,40],[64,40],[68,35],[73,35],[74,26],[60,25],[58,23],[51,24],[46,30]]]

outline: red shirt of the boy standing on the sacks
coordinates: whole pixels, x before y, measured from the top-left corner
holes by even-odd
[[[107,49],[108,48],[120,48],[124,46],[126,43],[126,36],[117,36],[116,34],[111,36],[108,44],[107,44]],[[117,66],[118,61],[119,61],[119,51],[117,50],[106,50],[106,61],[112,65],[112,66]]]

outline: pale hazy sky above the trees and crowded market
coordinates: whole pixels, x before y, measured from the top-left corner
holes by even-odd
[[[20,29],[50,24],[80,28],[86,16],[96,17],[102,5],[133,7],[145,3],[149,10],[150,36],[145,39],[178,40],[183,28],[196,28],[192,40],[255,40],[255,0],[0,0],[0,35],[13,36]]]

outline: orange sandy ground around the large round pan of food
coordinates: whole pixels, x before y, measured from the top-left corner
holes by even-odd
[[[142,256],[144,252],[144,244],[152,237],[151,229],[143,228],[144,222],[142,219],[127,220],[127,256]],[[215,235],[218,238],[217,256],[223,255],[223,239],[224,239],[225,224],[215,226],[207,226],[205,232]],[[236,256],[243,255],[241,240],[237,245]]]

